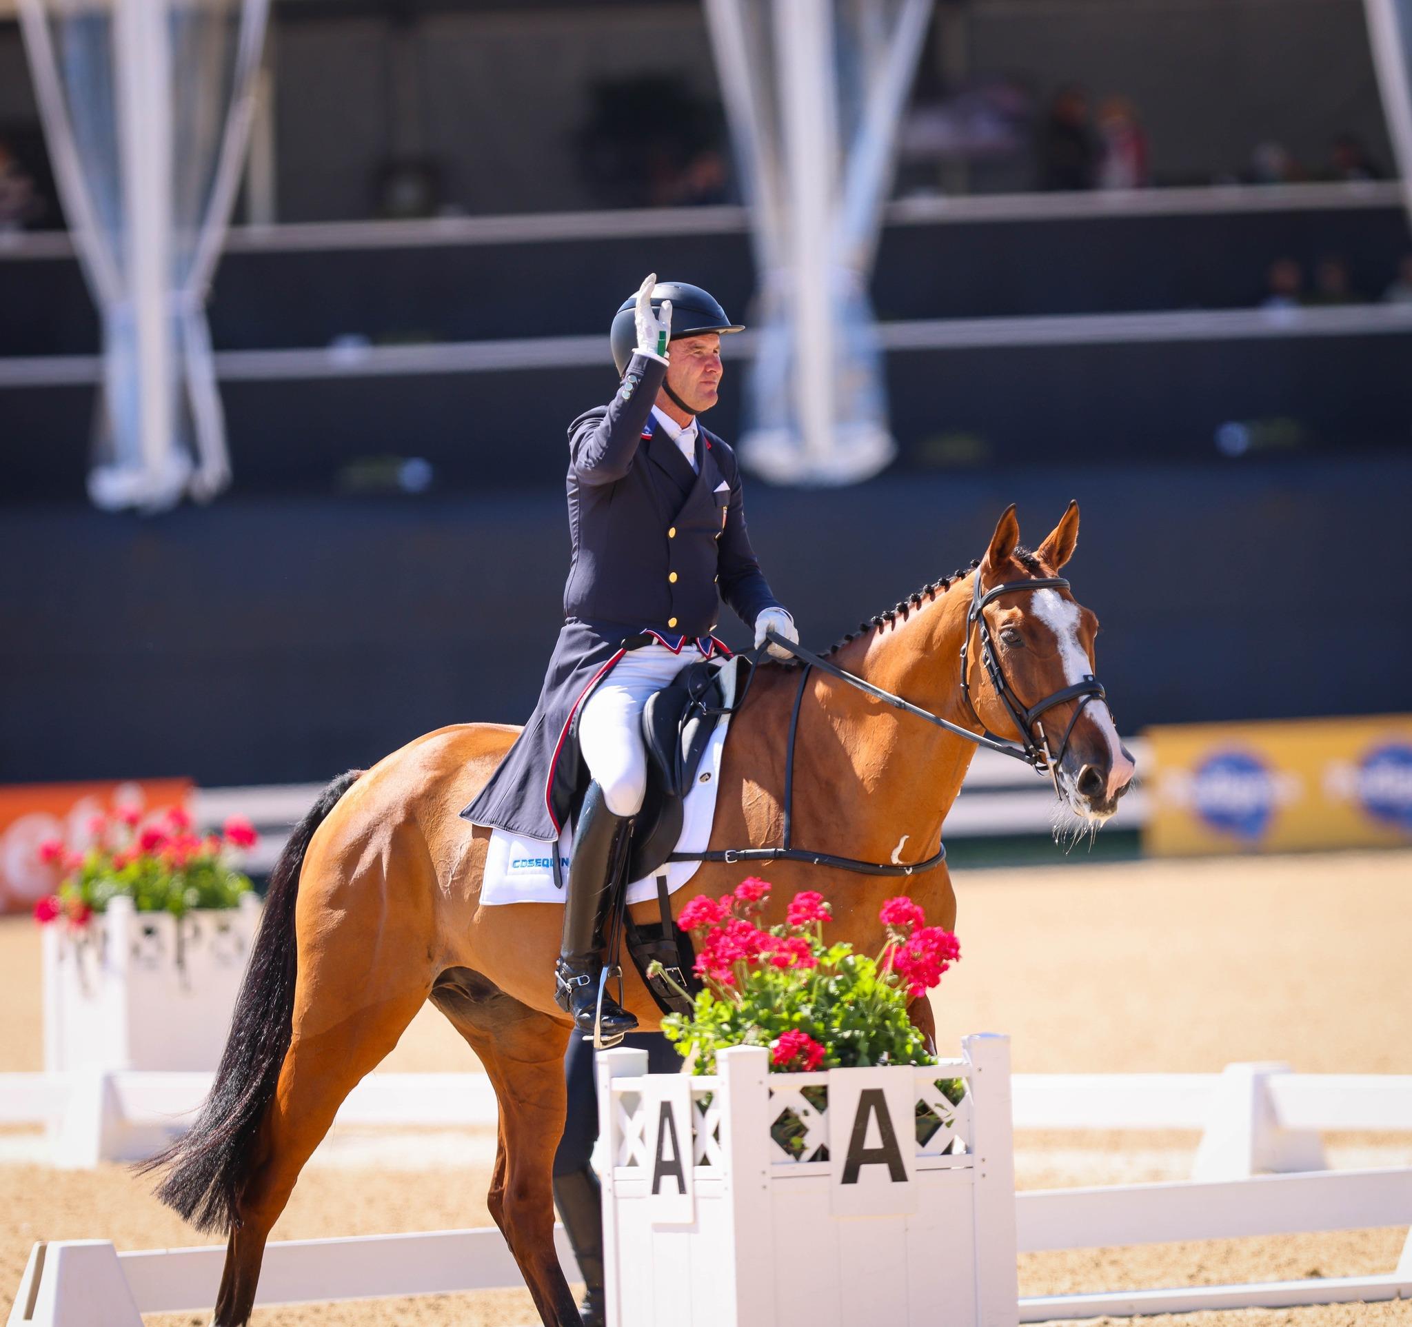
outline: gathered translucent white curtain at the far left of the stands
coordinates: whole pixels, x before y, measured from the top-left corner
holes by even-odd
[[[49,155],[103,323],[89,494],[161,510],[229,483],[205,298],[268,0],[20,0]]]

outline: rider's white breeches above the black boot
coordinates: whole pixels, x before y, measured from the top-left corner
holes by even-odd
[[[614,816],[635,816],[647,793],[642,707],[688,664],[700,658],[695,642],[681,654],[665,645],[630,649],[593,689],[579,716],[579,747],[603,800]]]

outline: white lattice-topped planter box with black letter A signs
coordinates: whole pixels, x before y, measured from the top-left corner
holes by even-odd
[[[717,1062],[689,1077],[599,1056],[611,1327],[1014,1327],[1008,1038],[925,1069]],[[959,1105],[946,1079],[966,1080]]]

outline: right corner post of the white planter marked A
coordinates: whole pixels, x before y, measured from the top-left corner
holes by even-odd
[[[981,1327],[1019,1321],[1015,1231],[1015,1138],[1010,1100],[1010,1038],[995,1032],[962,1038],[971,1066],[971,1193],[976,1213],[976,1320]]]

